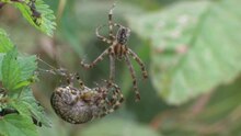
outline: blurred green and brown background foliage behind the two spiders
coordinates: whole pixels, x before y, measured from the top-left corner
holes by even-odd
[[[92,61],[107,45],[95,27],[107,23],[112,0],[45,0],[57,16],[53,38],[37,32],[11,7],[0,11],[0,26],[18,47],[94,82],[108,77],[108,59],[92,70]],[[239,0],[117,0],[114,20],[131,29],[128,46],[145,61],[149,79],[137,65],[141,101],[134,101],[131,79],[117,63],[116,82],[126,101],[115,113],[82,125],[65,123],[50,107],[59,77],[39,76],[34,88],[46,107],[50,136],[238,136],[241,135],[241,2]],[[103,31],[103,35],[107,31]],[[134,61],[135,64],[135,61]],[[39,67],[48,69],[46,66]]]

